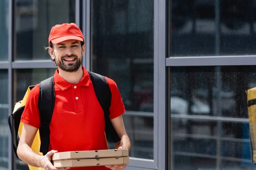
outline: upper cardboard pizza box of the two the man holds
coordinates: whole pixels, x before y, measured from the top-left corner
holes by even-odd
[[[110,150],[86,150],[59,152],[52,155],[52,161],[63,159],[90,159],[90,158],[111,158],[129,156],[128,149],[110,149]]]

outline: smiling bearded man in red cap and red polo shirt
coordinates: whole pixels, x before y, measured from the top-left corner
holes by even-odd
[[[25,109],[21,116],[22,134],[17,147],[21,160],[34,167],[56,170],[51,156],[56,152],[74,150],[105,150],[108,144],[105,138],[104,112],[99,105],[88,71],[81,65],[85,53],[84,36],[74,23],[64,23],[52,27],[47,47],[52,61],[58,69],[55,71],[55,106],[49,124],[49,152],[40,156],[31,145],[38,128],[41,126],[38,111],[39,84],[29,93]],[[116,148],[130,150],[130,140],[125,132],[122,114],[125,108],[116,83],[105,77],[111,90],[111,123],[120,137]],[[126,165],[73,167],[79,170],[123,170]],[[65,170],[65,168],[61,168]]]

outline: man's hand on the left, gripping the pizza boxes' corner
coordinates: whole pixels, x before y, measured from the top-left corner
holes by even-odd
[[[56,168],[52,165],[52,155],[54,153],[57,153],[58,151],[56,150],[51,150],[49,151],[45,156],[42,157],[41,161],[40,161],[40,165],[41,167],[43,167],[45,170],[68,170],[70,169],[70,167],[65,167],[65,168]]]

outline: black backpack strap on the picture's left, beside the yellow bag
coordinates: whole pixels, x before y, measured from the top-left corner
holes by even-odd
[[[39,133],[41,138],[40,152],[44,155],[49,151],[50,129],[52,113],[55,104],[54,79],[49,77],[39,83],[38,109],[41,117]]]

